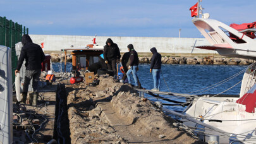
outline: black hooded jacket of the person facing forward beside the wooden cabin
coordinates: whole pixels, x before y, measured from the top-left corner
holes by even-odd
[[[110,43],[111,45],[107,45]],[[117,44],[115,44],[110,38],[107,39],[106,45],[103,50],[105,61],[113,61],[114,59],[120,59],[120,50]]]

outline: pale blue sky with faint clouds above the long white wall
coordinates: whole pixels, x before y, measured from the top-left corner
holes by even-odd
[[[6,16],[37,35],[202,37],[192,23],[197,0],[0,0]],[[227,25],[256,21],[255,0],[202,0],[204,13]]]

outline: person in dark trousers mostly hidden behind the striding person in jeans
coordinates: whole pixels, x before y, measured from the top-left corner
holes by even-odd
[[[122,60],[121,60],[122,66],[123,66],[123,78],[122,80],[125,81],[127,78],[127,71],[128,71],[128,67],[130,64],[130,52],[125,52],[125,54],[123,54]],[[137,80],[138,80],[138,76],[137,76]],[[138,88],[142,88],[142,85],[140,84],[140,80],[138,80]]]

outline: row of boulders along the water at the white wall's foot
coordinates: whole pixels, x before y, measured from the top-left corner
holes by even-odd
[[[52,53],[52,62],[64,62],[64,54]],[[140,56],[139,63],[150,63],[151,56]],[[72,62],[72,56],[67,54],[67,62]],[[168,57],[162,56],[162,64],[216,64],[216,65],[249,65],[253,60],[239,59],[239,58],[227,58],[227,57]]]

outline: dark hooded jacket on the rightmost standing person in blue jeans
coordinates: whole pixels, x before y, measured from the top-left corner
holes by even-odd
[[[151,58],[150,69],[161,69],[162,56],[157,52],[155,47],[151,48],[150,51],[153,53]]]

